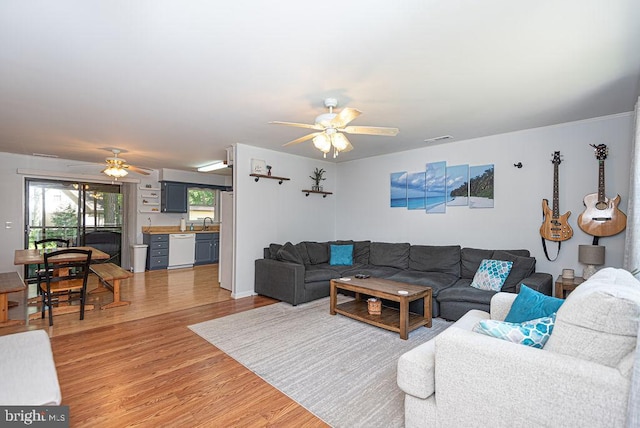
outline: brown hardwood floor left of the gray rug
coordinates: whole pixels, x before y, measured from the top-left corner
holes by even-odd
[[[217,265],[138,273],[122,284],[129,306],[95,309],[83,321],[58,315],[51,328],[38,319],[0,335],[48,329],[72,427],[327,426],[187,328],[275,302],[233,300],[217,276]],[[96,305],[112,300],[91,296]]]

